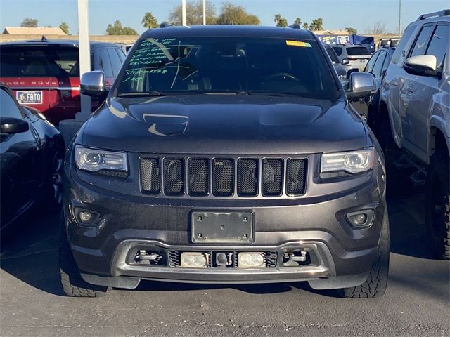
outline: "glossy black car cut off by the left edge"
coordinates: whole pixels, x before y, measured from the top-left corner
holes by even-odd
[[[37,110],[0,84],[1,221],[4,229],[39,201],[60,203],[64,141]]]

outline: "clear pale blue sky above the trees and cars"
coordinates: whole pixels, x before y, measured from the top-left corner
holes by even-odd
[[[196,1],[196,0],[186,0]],[[224,0],[207,0],[219,12]],[[388,32],[397,33],[401,1],[401,29],[420,14],[450,8],[450,0],[228,0],[244,6],[259,17],[262,25],[274,25],[279,13],[289,24],[299,17],[302,22],[323,18],[325,29],[354,27],[362,34],[375,22],[386,24]],[[91,35],[105,34],[109,23],[120,20],[142,33],[143,15],[150,11],[158,22],[167,20],[169,12],[181,0],[89,0],[89,29]],[[39,26],[58,27],[67,22],[71,34],[77,34],[77,0],[0,0],[0,29],[19,27],[24,18],[39,20]]]

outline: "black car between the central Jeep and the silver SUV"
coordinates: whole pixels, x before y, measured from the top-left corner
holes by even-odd
[[[372,95],[352,100],[353,107],[366,119],[367,124],[371,126],[375,133],[378,133],[378,103],[380,103],[380,87],[387,66],[391,62],[395,48],[382,47],[376,51],[368,61],[364,72],[373,74],[375,77],[376,91]],[[377,134],[378,136],[378,134]]]

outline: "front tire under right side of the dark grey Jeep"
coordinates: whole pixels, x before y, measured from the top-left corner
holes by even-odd
[[[341,289],[340,295],[344,298],[373,298],[383,296],[387,286],[389,273],[389,218],[387,211],[383,217],[378,253],[372,264],[366,282],[361,286],[352,286]]]

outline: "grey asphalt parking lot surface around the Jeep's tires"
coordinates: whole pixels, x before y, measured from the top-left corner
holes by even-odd
[[[65,297],[58,279],[58,214],[41,211],[2,242],[0,335],[450,336],[450,263],[430,258],[423,190],[404,176],[390,178],[392,254],[381,298],[346,300],[306,283],[160,282],[113,290],[105,298]]]

